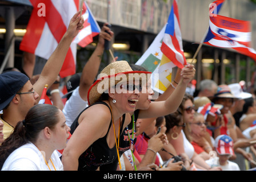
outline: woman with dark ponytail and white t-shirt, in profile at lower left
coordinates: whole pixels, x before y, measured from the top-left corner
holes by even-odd
[[[56,150],[66,147],[70,128],[54,105],[33,106],[0,146],[2,171],[63,170]]]

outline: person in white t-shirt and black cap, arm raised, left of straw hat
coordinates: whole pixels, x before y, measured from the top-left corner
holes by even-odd
[[[97,76],[105,40],[110,41],[113,37],[114,32],[105,23],[99,33],[97,47],[85,64],[85,67],[83,67],[82,73],[76,73],[67,81],[67,90],[69,92],[64,96],[64,98],[67,98],[67,101],[63,109],[63,113],[67,119],[67,126],[71,126],[78,114],[88,106],[87,93]]]

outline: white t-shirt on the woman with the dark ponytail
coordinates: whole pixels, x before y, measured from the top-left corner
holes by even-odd
[[[53,162],[53,164],[51,163]],[[61,159],[54,151],[47,163],[51,171],[63,171]],[[54,166],[53,166],[54,165]],[[33,143],[27,143],[14,150],[3,164],[2,171],[50,171],[41,151]],[[55,169],[54,169],[55,167]]]

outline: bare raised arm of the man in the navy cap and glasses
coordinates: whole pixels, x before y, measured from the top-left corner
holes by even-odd
[[[67,31],[63,35],[49,60],[47,60],[38,81],[34,84],[34,89],[39,96],[41,96],[45,84],[51,85],[56,80],[59,72],[61,71],[71,42],[73,41],[74,37],[77,36],[79,30],[83,28],[83,18],[79,16],[79,13],[80,11],[78,11],[73,18],[71,18]]]

